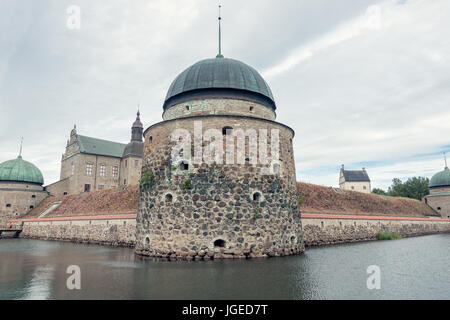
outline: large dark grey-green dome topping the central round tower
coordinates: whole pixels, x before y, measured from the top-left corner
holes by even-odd
[[[199,61],[178,75],[167,92],[164,109],[210,97],[245,99],[276,109],[272,91],[258,71],[221,57]]]

